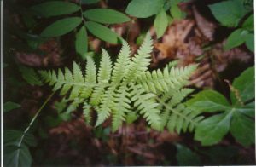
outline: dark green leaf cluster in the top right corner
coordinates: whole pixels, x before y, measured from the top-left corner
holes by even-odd
[[[222,26],[236,28],[228,37],[224,49],[232,49],[245,43],[247,49],[254,52],[253,1],[229,0],[209,7]]]

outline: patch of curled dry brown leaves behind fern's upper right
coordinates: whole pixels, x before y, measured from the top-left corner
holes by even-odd
[[[225,41],[205,49],[207,44],[214,41],[216,25],[205,19],[195,6],[189,12],[192,14],[190,19],[175,20],[162,40],[154,43],[157,51],[151,66],[157,67],[171,60],[179,60],[178,66],[197,63],[199,66],[191,78],[191,84],[212,88],[218,72],[224,71],[231,61],[248,62],[253,59],[253,55],[239,48],[224,51]],[[199,57],[201,59],[197,59]]]

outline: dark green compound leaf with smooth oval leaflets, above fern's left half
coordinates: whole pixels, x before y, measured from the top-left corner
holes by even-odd
[[[90,4],[97,2],[96,0],[80,1],[78,5],[76,3],[63,1],[49,1],[34,5],[30,9],[34,14],[43,18],[79,12],[79,16],[72,15],[56,20],[51,25],[47,26],[44,31],[41,32],[40,36],[60,37],[78,29],[75,35],[75,49],[77,53],[85,59],[85,55],[88,51],[87,31],[108,43],[119,43],[119,35],[111,31],[107,26],[102,26],[102,24],[109,25],[130,21],[130,18],[125,14],[113,9],[87,9],[85,11],[82,9],[84,3]]]

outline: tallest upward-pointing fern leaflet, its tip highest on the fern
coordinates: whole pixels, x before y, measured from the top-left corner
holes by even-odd
[[[148,70],[151,61],[151,51],[153,49],[153,41],[147,33],[142,46],[138,49],[137,54],[132,57],[131,65],[125,76],[125,81],[130,83],[135,78],[139,77],[143,72]]]

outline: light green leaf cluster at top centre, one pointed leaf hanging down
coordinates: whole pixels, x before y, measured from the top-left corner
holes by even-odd
[[[178,3],[183,0],[132,0],[126,8],[126,13],[137,18],[154,17],[154,28],[157,37],[162,37],[173,19],[181,20],[185,13],[179,9]],[[171,15],[169,15],[170,13]]]

